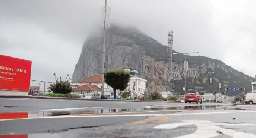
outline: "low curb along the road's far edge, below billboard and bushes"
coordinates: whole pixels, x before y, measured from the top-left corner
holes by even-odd
[[[112,99],[81,99],[68,97],[45,97],[45,96],[20,96],[20,95],[0,95],[1,98],[31,98],[31,99],[65,99],[65,100],[84,100],[84,101],[127,101],[127,102],[168,102],[168,101],[139,101],[139,100],[112,100]],[[178,103],[178,102],[168,102]]]

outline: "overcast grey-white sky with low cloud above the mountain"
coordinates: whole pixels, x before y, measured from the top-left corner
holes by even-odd
[[[32,60],[31,79],[72,75],[104,1],[2,1],[1,54]],[[256,0],[108,1],[111,23],[129,24],[174,50],[200,52],[256,74]]]

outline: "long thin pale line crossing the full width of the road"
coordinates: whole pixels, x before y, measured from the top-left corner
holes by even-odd
[[[85,115],[85,116],[46,116],[34,118],[20,118],[20,119],[1,119],[5,120],[22,120],[22,119],[43,119],[43,118],[97,118],[97,117],[132,117],[132,116],[174,116],[174,115],[201,115],[201,114],[227,114],[227,113],[251,113],[256,111],[230,111],[230,112],[199,112],[199,113],[181,113],[181,114],[128,114],[128,115]]]

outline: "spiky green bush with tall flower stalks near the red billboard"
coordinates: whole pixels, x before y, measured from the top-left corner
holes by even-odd
[[[54,76],[56,77],[55,73]],[[57,79],[55,83],[51,83],[50,86],[48,86],[48,88],[53,93],[61,93],[61,94],[70,94],[72,92],[72,87],[71,84],[69,82],[69,79],[67,80],[67,78],[69,77],[69,75],[67,75],[66,79],[62,79],[60,77],[60,81]]]

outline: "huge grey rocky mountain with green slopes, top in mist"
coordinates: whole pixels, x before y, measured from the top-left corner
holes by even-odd
[[[95,31],[86,39],[82,52],[72,76],[73,81],[101,74],[103,44],[102,33]],[[141,78],[147,79],[149,91],[164,91],[165,63],[167,46],[162,45],[150,36],[147,36],[134,27],[111,26],[106,37],[106,70],[130,67],[138,70]],[[177,53],[177,52],[176,52]],[[184,93],[184,62],[185,56],[178,53],[174,57],[175,91]],[[252,90],[250,84],[252,77],[239,72],[220,60],[205,56],[187,56],[189,70],[187,76],[187,89],[196,89],[199,92],[209,92],[209,75],[212,74],[212,91],[218,92],[219,80],[225,81],[228,87]],[[224,83],[222,82],[222,85]],[[224,90],[222,89],[222,92]],[[241,91],[227,91],[230,95],[238,95]]]

